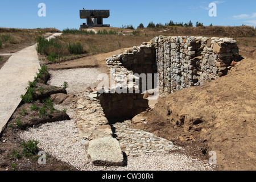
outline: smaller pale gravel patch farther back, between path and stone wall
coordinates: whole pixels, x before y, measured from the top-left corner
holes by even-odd
[[[88,86],[92,89],[98,86],[97,77],[100,75],[100,68],[78,68],[49,71],[51,79],[49,85],[62,87],[64,82],[68,82],[68,94],[77,94],[84,91]]]

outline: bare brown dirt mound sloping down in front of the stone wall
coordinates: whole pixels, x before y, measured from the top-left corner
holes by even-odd
[[[255,75],[256,60],[247,57],[224,77],[159,98],[140,115],[148,122],[133,126],[205,156],[216,151],[219,170],[255,170]]]

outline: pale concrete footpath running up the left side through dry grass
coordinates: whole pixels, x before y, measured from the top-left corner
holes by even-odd
[[[49,38],[59,36],[53,34]],[[48,38],[48,39],[49,39]],[[12,53],[0,69],[0,133],[19,106],[20,95],[26,94],[28,81],[33,81],[40,68],[36,44]]]

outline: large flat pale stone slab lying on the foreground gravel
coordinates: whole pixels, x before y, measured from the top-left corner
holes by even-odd
[[[96,166],[123,166],[123,154],[117,139],[104,137],[91,140],[88,155]]]

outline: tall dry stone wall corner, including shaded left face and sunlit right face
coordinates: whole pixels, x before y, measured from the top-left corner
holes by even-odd
[[[123,54],[108,57],[106,63],[117,71],[115,74],[126,77],[134,73],[158,73],[159,93],[166,94],[224,76],[232,61],[238,59],[237,42],[231,38],[159,36]]]

